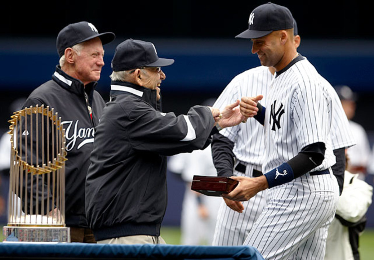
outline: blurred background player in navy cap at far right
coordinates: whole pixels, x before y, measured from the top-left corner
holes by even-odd
[[[348,171],[359,174],[361,180],[365,180],[369,157],[371,154],[367,133],[360,124],[352,121],[356,112],[357,94],[348,86],[335,86],[335,90],[349,120],[349,126],[356,139],[356,145],[347,149],[349,158]]]

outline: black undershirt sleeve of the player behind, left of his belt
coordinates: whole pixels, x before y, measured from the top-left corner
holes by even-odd
[[[212,158],[217,175],[230,177],[233,175],[234,167],[234,143],[220,133],[213,135]]]

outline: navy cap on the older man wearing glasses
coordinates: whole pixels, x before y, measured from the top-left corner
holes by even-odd
[[[159,58],[156,47],[149,41],[128,39],[118,44],[112,60],[113,71],[125,71],[143,66],[163,67],[174,59]]]

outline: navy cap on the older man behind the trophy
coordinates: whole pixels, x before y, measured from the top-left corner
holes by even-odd
[[[57,52],[61,57],[65,53],[65,49],[73,47],[75,44],[83,43],[83,41],[91,40],[99,37],[102,45],[110,43],[116,38],[111,32],[99,33],[96,27],[90,22],[76,22],[64,27],[57,35]]]

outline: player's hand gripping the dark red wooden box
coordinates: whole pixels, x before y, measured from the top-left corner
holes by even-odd
[[[222,196],[234,201],[247,201],[258,192],[269,188],[269,184],[267,183],[265,176],[255,178],[232,176],[230,178],[239,181],[239,184],[232,192],[222,194]]]

